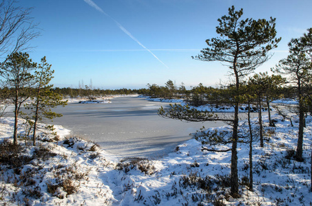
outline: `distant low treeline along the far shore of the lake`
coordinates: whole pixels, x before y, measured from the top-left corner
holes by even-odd
[[[55,87],[51,90],[54,93],[63,95],[63,97],[70,98],[99,98],[109,95],[146,95],[150,98],[166,98],[166,99],[184,99],[189,102],[190,105],[200,106],[204,104],[215,104],[216,106],[227,104],[229,97],[229,87],[205,87],[202,83],[191,89],[186,89],[182,84],[180,87],[169,80],[165,84],[166,86],[158,86],[157,84],[147,84],[148,88],[143,89],[75,89],[70,87]],[[30,90],[32,90],[30,88]],[[278,87],[275,91],[278,93],[278,97],[293,98],[295,90],[292,87]],[[5,95],[10,92],[7,87],[0,88],[1,95]]]

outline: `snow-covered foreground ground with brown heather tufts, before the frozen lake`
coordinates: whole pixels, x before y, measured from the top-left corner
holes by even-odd
[[[66,137],[55,126],[53,135],[40,125],[37,146],[19,138],[14,155],[13,119],[0,124],[0,203],[3,205],[311,205],[312,118],[306,118],[303,162],[293,160],[298,119],[294,127],[275,115],[276,127],[265,127],[264,148],[253,144],[253,187],[247,190],[249,146],[238,145],[241,197],[229,196],[231,152],[201,151],[191,139],[158,160],[121,160],[96,144]],[[25,133],[20,120],[19,133]],[[210,128],[230,134],[231,128]],[[219,146],[227,149],[229,146]]]

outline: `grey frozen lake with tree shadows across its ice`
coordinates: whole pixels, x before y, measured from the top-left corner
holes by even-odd
[[[68,104],[57,108],[63,117],[53,120],[72,130],[72,135],[96,142],[117,157],[157,158],[191,139],[202,126],[222,126],[222,122],[187,123],[164,119],[157,114],[160,106],[143,98],[114,98],[111,104]]]

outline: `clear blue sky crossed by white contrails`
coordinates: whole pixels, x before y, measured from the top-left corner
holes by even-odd
[[[217,19],[228,8],[244,9],[243,19],[276,18],[282,41],[274,56],[256,72],[269,71],[287,56],[287,43],[312,27],[312,1],[274,0],[27,0],[41,36],[31,44],[30,57],[46,56],[55,70],[55,87],[138,89],[147,83],[179,85],[200,82],[214,86],[227,80],[220,62],[201,62],[191,56],[216,37]],[[92,2],[96,5],[91,6]],[[140,45],[141,44],[141,45]]]

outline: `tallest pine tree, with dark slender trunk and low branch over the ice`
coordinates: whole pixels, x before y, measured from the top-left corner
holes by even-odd
[[[275,19],[241,19],[242,9],[236,11],[234,6],[229,8],[229,14],[218,19],[219,25],[216,32],[219,37],[207,39],[207,48],[201,50],[201,54],[195,56],[196,60],[202,61],[219,61],[223,65],[229,67],[231,75],[235,79],[235,91],[232,99],[235,108],[234,117],[231,119],[233,124],[232,146],[231,146],[231,195],[238,197],[238,106],[240,104],[240,84],[245,76],[251,73],[256,67],[266,62],[271,55],[268,52],[277,47],[280,38],[275,38]],[[169,108],[167,117],[183,119],[180,114],[172,112]],[[187,109],[187,108],[185,108]],[[180,108],[178,108],[180,110]],[[160,114],[166,116],[166,111],[160,111]],[[185,113],[191,115],[191,113]],[[204,115],[204,114],[203,114]],[[212,116],[211,116],[212,115]],[[203,118],[202,115],[193,115],[191,119],[208,119],[215,121],[213,114],[207,114]],[[199,120],[198,119],[198,120]],[[209,121],[209,120],[208,120]]]

